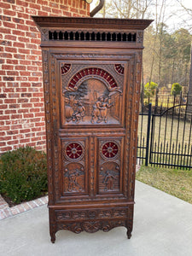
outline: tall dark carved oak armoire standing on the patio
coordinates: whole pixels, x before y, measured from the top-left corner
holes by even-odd
[[[152,20],[33,17],[41,32],[49,230],[131,237],[143,30]]]

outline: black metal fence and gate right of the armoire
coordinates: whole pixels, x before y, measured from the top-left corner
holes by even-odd
[[[192,168],[192,104],[190,96],[161,96],[142,105],[137,163]],[[154,105],[154,106],[153,106]]]

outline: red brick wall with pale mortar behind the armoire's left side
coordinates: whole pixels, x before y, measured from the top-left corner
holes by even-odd
[[[40,33],[31,15],[89,16],[83,0],[0,0],[0,154],[45,150]]]

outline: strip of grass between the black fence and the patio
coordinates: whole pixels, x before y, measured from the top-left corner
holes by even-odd
[[[141,166],[136,178],[192,204],[192,170]]]

